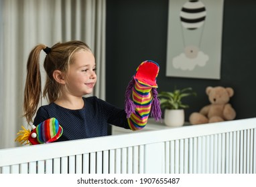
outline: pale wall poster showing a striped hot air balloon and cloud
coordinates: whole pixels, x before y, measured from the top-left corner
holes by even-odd
[[[220,79],[224,0],[169,0],[166,75]]]

